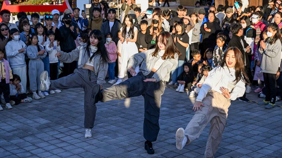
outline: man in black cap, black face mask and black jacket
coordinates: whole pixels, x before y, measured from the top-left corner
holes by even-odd
[[[71,52],[76,48],[76,44],[74,40],[76,40],[78,34],[76,32],[75,26],[71,25],[71,16],[70,14],[65,14],[64,25],[60,27],[60,33],[62,41],[60,42],[61,51],[63,52]],[[74,69],[76,69],[76,61],[71,63],[64,63],[63,68],[63,76],[67,76],[73,73]]]

